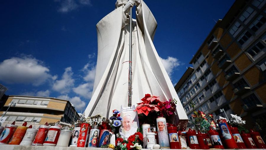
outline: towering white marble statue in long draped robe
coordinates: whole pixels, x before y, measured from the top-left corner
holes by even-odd
[[[128,14],[134,5],[137,19],[132,21],[132,105],[137,106],[136,103],[146,93],[160,96],[163,101],[175,98],[178,100],[178,117],[174,121],[187,122],[184,108],[153,45],[157,22],[142,0],[117,0],[116,9],[97,23],[96,75],[93,95],[85,114],[91,116],[99,113],[111,117],[113,109],[128,105]]]

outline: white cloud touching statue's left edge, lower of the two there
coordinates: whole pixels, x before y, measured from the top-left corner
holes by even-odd
[[[73,91],[86,99],[90,99],[93,91],[93,83],[81,84],[73,88]]]

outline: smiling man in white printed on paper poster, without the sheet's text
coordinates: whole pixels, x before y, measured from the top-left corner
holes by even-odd
[[[128,138],[137,132],[137,128],[133,125],[134,118],[131,114],[125,114],[122,120],[122,126],[119,129],[119,133],[122,137]]]

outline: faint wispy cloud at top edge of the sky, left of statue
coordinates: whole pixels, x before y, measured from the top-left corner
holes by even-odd
[[[55,0],[56,2],[60,2],[60,7],[57,10],[58,12],[62,13],[67,13],[72,10],[77,9],[78,7],[81,6],[91,6],[91,1],[90,0]]]

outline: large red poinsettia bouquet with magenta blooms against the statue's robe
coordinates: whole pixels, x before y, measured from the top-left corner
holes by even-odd
[[[145,94],[141,101],[141,103],[137,103],[138,106],[134,110],[138,113],[140,124],[146,122],[155,125],[157,117],[166,117],[168,120],[176,110],[175,99],[162,102],[159,96]]]

